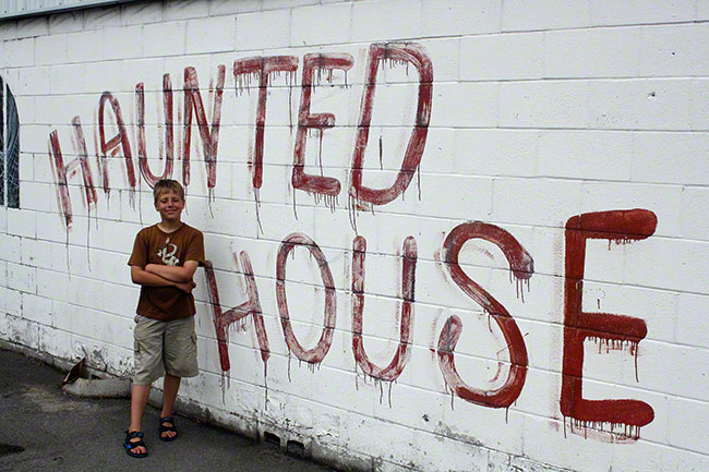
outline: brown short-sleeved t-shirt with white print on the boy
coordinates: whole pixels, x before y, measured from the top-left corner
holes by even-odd
[[[182,266],[185,261],[204,264],[204,235],[185,223],[171,233],[153,225],[135,237],[129,266],[145,268],[147,264]],[[141,287],[136,313],[168,322],[187,318],[195,313],[194,296],[177,287]]]

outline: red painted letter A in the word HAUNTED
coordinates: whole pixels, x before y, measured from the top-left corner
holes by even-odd
[[[106,141],[105,128],[106,102],[109,102],[111,110],[113,110],[113,121],[118,128],[118,133],[108,141]],[[107,159],[117,156],[119,148],[123,152],[122,156],[125,159],[128,185],[130,189],[135,189],[137,182],[135,181],[135,169],[133,168],[133,154],[131,152],[131,143],[128,140],[128,133],[125,132],[121,105],[110,92],[104,92],[101,98],[98,100],[98,135],[101,147],[101,168],[104,169],[104,192],[106,194],[110,193]]]

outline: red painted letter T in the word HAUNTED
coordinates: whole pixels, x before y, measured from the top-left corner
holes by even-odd
[[[256,105],[256,140],[253,155],[253,187],[261,189],[263,183],[263,149],[266,133],[266,101],[268,86],[274,75],[281,72],[289,76],[298,70],[298,58],[295,56],[269,56],[238,59],[233,62],[233,78],[237,82],[237,94],[249,85],[251,77],[259,81],[259,104]]]

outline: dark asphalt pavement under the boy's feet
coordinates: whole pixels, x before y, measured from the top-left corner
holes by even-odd
[[[0,472],[5,471],[332,471],[274,447],[178,417],[180,438],[157,437],[159,411],[148,407],[148,457],[122,449],[130,402],[64,395],[64,374],[0,349]]]

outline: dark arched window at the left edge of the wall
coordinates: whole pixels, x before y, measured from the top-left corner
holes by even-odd
[[[10,87],[0,77],[0,205],[20,208],[20,120]]]

